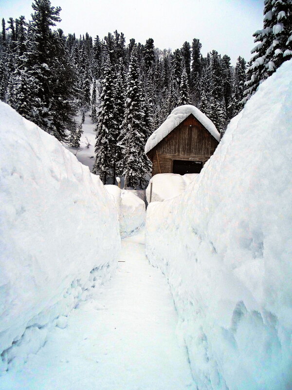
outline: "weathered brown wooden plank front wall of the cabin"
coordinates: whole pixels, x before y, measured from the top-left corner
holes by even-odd
[[[204,164],[217,146],[218,141],[191,114],[147,153],[153,164],[152,176],[172,173],[173,160],[190,159]]]

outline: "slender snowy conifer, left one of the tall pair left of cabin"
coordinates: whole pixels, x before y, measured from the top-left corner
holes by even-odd
[[[117,123],[114,117],[115,80],[110,58],[108,57],[101,80],[100,110],[97,115],[95,163],[92,173],[100,175],[104,184],[112,173],[114,156],[114,136]]]

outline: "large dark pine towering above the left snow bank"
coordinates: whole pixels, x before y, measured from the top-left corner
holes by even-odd
[[[26,112],[45,131],[64,140],[74,127],[75,75],[62,30],[51,30],[60,21],[60,8],[52,7],[49,0],[35,0],[32,7],[35,12],[18,63],[19,85],[12,89],[20,101],[15,94],[10,98],[22,107],[22,115]],[[25,102],[27,91],[30,101]]]

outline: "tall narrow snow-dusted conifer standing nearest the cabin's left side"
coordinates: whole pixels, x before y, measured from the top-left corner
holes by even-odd
[[[122,147],[125,188],[145,183],[149,160],[144,153],[146,143],[141,82],[139,80],[137,46],[133,47],[128,72],[126,112],[119,145]]]

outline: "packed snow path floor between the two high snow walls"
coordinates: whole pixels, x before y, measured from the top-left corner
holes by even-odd
[[[193,390],[164,275],[149,265],[144,232],[122,241],[115,275],[55,328],[5,390]]]

